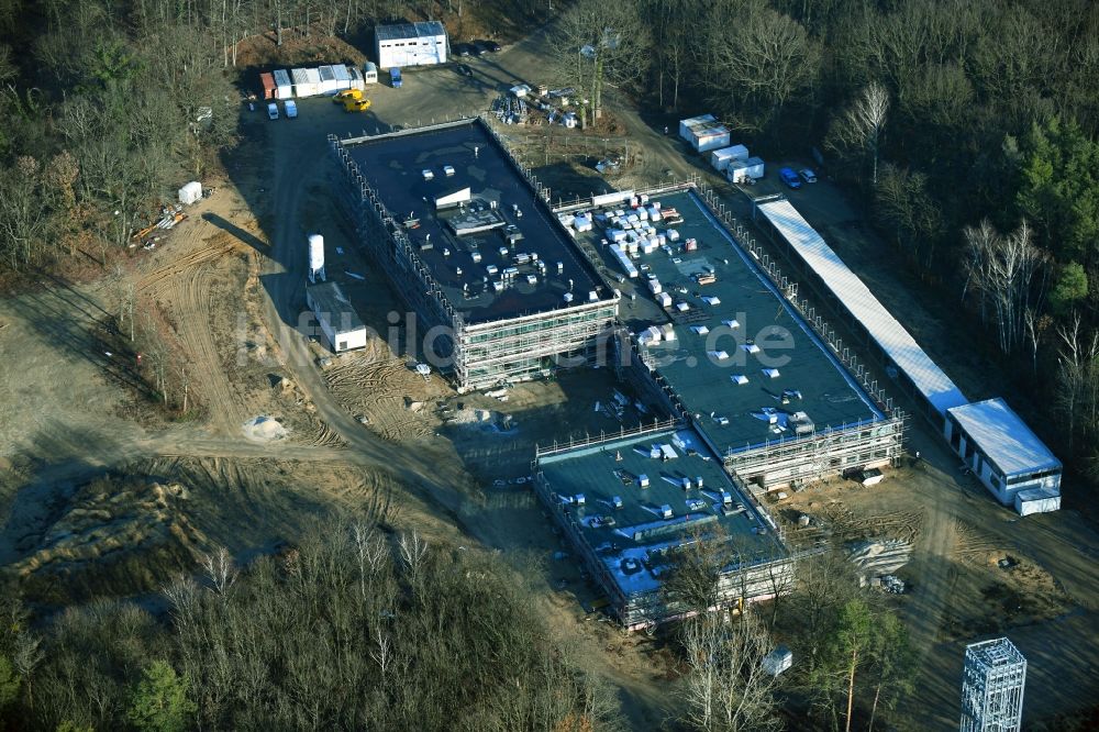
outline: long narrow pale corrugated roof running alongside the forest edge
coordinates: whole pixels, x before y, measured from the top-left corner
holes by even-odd
[[[897,368],[908,375],[940,414],[945,414],[952,407],[966,403],[962,390],[931,361],[915,339],[897,322],[789,201],[768,201],[761,203],[757,209],[786,237],[843,307],[863,324]]]

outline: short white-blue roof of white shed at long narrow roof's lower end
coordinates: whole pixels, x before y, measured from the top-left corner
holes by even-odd
[[[954,407],[950,413],[1004,477],[1061,467],[1061,461],[1002,399]]]

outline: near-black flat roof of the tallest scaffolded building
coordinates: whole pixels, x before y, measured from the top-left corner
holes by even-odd
[[[346,149],[395,219],[419,220],[419,226],[408,229],[407,234],[466,322],[560,309],[567,306],[565,295],[569,291],[573,304],[588,302],[591,291],[597,291],[600,300],[613,299],[613,292],[479,120],[380,135],[347,143]],[[451,166],[453,175],[444,174],[444,166]],[[424,170],[431,170],[430,180]],[[518,228],[522,240],[508,246],[502,230],[456,236],[437,217],[434,201],[466,187],[473,199],[495,203],[507,224]],[[520,264],[523,258],[519,255],[523,254],[528,258]],[[533,255],[545,262],[544,275]],[[475,256],[480,260],[475,262]],[[504,280],[503,270],[509,267],[517,271]],[[531,275],[533,284],[528,280]],[[503,282],[502,289],[498,290],[496,282]]]

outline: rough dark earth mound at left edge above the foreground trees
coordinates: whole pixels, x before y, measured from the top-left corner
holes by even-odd
[[[66,600],[112,588],[156,589],[193,567],[207,537],[187,513],[179,484],[101,478],[76,490],[54,512],[31,552],[9,570],[29,597]],[[155,568],[155,569],[154,569]]]

